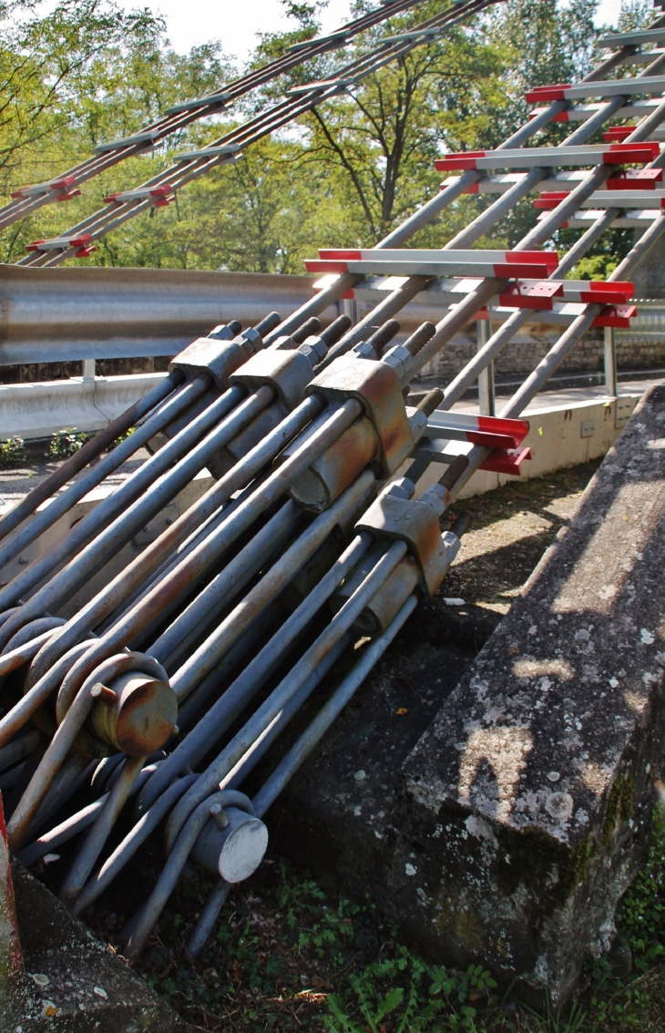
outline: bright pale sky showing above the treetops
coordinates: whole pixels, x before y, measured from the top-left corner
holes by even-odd
[[[196,43],[220,39],[226,54],[240,61],[247,59],[256,43],[256,32],[293,29],[279,0],[121,0],[127,9],[150,7],[166,19],[173,50],[186,54]],[[615,24],[621,0],[601,0],[599,24]],[[322,31],[330,32],[350,21],[349,0],[328,0],[323,12]]]

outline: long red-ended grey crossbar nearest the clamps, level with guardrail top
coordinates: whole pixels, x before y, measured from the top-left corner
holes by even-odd
[[[544,279],[559,264],[556,251],[480,251],[322,248],[307,258],[309,273],[379,273],[387,276],[515,276]],[[536,272],[536,270],[538,272]]]

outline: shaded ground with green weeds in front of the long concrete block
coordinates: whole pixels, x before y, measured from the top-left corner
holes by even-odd
[[[425,963],[371,901],[334,900],[279,859],[239,887],[198,962],[184,949],[208,885],[171,900],[141,963],[148,981],[197,1029],[265,1033],[652,1033],[665,1029],[665,822],[626,895],[621,941],[585,973],[587,989],[543,1013],[482,966]],[[630,971],[629,971],[630,969]]]

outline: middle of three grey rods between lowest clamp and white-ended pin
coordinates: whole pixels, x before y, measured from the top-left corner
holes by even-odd
[[[183,796],[168,819],[165,834],[167,850],[170,844],[175,842],[192,808],[207,796],[212,788],[219,784],[231,768],[237,763],[243,754],[247,752],[256,737],[279,714],[291,696],[297,692],[303,682],[309,678],[321,660],[323,660],[336,641],[341,638],[345,631],[348,631],[370,599],[381,585],[383,585],[392,570],[394,570],[398,563],[400,563],[406,554],[406,551],[407,546],[404,541],[395,541],[390,545],[353,595],[338,611],[327,628],[300,657],[295,666],[280,682],[277,688],[274,689],[267,699],[261,703],[243,728],[224,747],[205,772],[198,777],[196,783]]]

